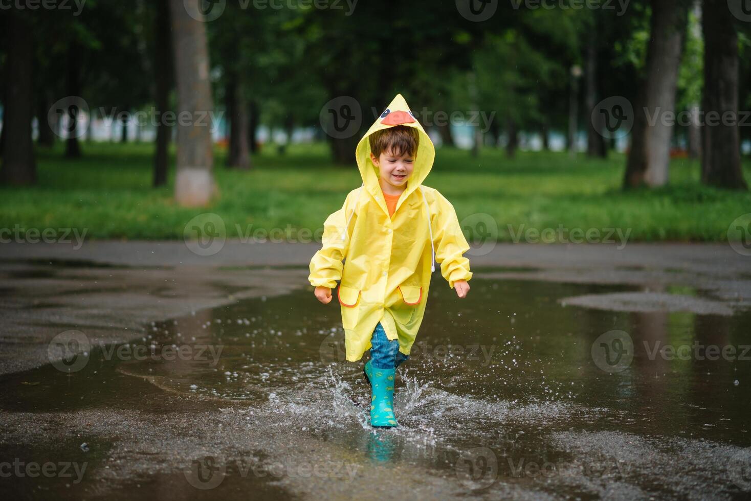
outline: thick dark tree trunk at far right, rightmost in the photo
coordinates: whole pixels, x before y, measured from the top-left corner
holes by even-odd
[[[738,40],[725,1],[704,0],[704,156],[701,182],[746,189],[740,169]],[[717,118],[711,118],[716,114]],[[726,121],[723,116],[734,119]]]

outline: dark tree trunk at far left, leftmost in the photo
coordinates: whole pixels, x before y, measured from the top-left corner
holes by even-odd
[[[8,11],[5,31],[7,59],[5,74],[11,75],[6,83],[3,130],[5,151],[0,179],[3,184],[32,184],[36,181],[36,163],[32,144],[32,118],[34,98],[32,92],[34,46],[32,28],[26,13]]]

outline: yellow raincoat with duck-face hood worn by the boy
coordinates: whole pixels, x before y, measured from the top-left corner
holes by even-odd
[[[395,125],[417,129],[420,145],[412,177],[390,217],[379,169],[370,160],[368,136]],[[440,263],[449,287],[472,278],[469,260],[462,255],[469,245],[453,205],[422,184],[436,150],[402,95],[360,139],[356,154],[363,186],[350,191],[342,208],[327,217],[323,247],[310,261],[308,278],[313,287],[330,289],[341,281],[337,297],[350,362],[369,350],[379,322],[390,340],[399,340],[400,352],[409,355],[422,323],[434,263]]]

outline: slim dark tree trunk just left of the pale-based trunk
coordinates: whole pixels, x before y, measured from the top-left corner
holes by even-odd
[[[162,115],[170,108],[170,90],[173,85],[172,40],[170,39],[170,6],[168,0],[157,0],[156,43],[154,61],[157,68],[155,81],[156,151],[154,153],[154,187],[167,184],[170,136],[172,129],[164,123]]]

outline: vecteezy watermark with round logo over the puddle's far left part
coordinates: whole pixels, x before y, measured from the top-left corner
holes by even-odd
[[[50,364],[67,374],[78,372],[89,363],[92,342],[83,332],[70,330],[56,335],[47,345]],[[176,360],[208,362],[215,367],[222,356],[224,345],[219,344],[107,344],[98,342],[104,360],[121,362],[153,360],[174,362]]]

